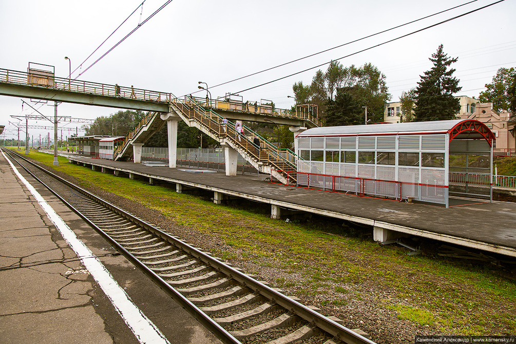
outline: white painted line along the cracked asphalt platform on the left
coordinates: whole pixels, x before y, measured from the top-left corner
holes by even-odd
[[[20,178],[25,184],[30,193],[34,195],[40,206],[46,212],[47,217],[54,223],[56,228],[61,233],[62,237],[68,242],[70,247],[75,251],[75,254],[80,258],[80,261],[91,273],[95,281],[100,285],[104,293],[109,298],[118,314],[125,321],[127,326],[134,333],[140,343],[166,343],[170,342],[165,336],[159,331],[159,329],[147,318],[141,310],[131,301],[130,297],[125,291],[118,285],[113,276],[107,271],[104,265],[99,259],[97,259],[93,253],[86,247],[86,245],[80,241],[70,227],[57,215],[55,210],[43,199],[36,189],[27,182],[27,180],[18,172],[18,169],[14,167],[12,162],[2,152],[2,155],[6,158],[11,165],[14,173]]]

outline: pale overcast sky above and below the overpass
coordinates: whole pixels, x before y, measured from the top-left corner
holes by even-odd
[[[0,0],[0,68],[26,71],[28,62],[55,66],[56,76],[72,71],[135,10],[143,0]],[[141,8],[86,61],[72,78],[104,54],[166,0],[146,0]],[[212,87],[303,56],[347,43],[391,27],[466,3],[466,0],[305,1],[305,0],[174,0],[142,25],[80,80],[171,92],[182,96],[197,91],[197,82]],[[426,20],[303,59],[265,73],[211,89],[213,97],[237,92],[318,64],[356,53],[409,32],[494,3],[477,0]],[[141,12],[141,20],[140,20]],[[340,60],[345,66],[370,62],[385,75],[392,101],[417,85],[428,58],[439,44],[457,69],[462,91],[477,97],[496,70],[516,67],[516,0],[505,0],[462,18]],[[326,67],[321,67],[325,70]],[[279,108],[294,102],[292,85],[310,84],[317,69],[240,93],[244,101],[272,100]],[[205,93],[197,93],[204,96]],[[26,100],[29,102],[29,100]],[[45,115],[52,106],[33,105]],[[95,119],[118,111],[86,105],[61,104],[63,116]],[[0,124],[6,137],[13,130],[11,115],[33,113],[19,97],[0,96]],[[29,121],[34,125],[50,122]],[[80,124],[69,124],[79,126]],[[36,138],[48,130],[29,129]],[[59,134],[60,135],[60,134]],[[63,132],[63,137],[67,135]],[[79,133],[80,135],[80,133]],[[24,135],[20,135],[24,137]],[[53,133],[51,133],[51,137]]]

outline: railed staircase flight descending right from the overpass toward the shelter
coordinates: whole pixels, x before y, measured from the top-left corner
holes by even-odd
[[[260,165],[271,166],[272,170],[278,171],[278,175],[274,175],[276,178],[283,181],[290,178],[292,181],[292,175],[288,175],[286,172],[297,171],[297,156],[291,150],[278,149],[245,125],[243,126],[244,133],[238,133],[235,123],[228,121],[227,124],[223,124],[222,116],[211,109],[203,108],[189,96],[185,96],[184,99],[172,99],[172,104],[179,109],[185,120],[196,121],[202,128],[201,130],[208,135],[219,140],[230,141],[240,151],[240,155],[252,160],[250,162],[254,161],[257,167]],[[188,123],[188,121],[186,122]],[[254,137],[260,140],[260,147],[253,143]]]

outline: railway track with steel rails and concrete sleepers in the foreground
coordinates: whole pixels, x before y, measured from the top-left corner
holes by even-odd
[[[374,344],[266,282],[160,231],[15,152],[4,152],[222,342]]]

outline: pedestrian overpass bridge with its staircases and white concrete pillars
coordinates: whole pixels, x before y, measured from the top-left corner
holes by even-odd
[[[288,149],[276,148],[246,126],[243,126],[244,133],[237,133],[231,120],[289,125],[294,136],[308,127],[321,125],[316,108],[309,104],[289,111],[273,108],[270,103],[249,105],[230,99],[210,100],[191,95],[178,98],[167,92],[59,78],[53,73],[35,70],[20,72],[0,69],[0,95],[149,111],[127,135],[124,145],[115,152],[115,159],[133,157],[135,162],[140,162],[141,146],[165,121],[171,168],[175,167],[178,121],[184,121],[224,147],[227,175],[236,175],[238,152],[257,170],[272,173],[283,183],[292,179],[288,172],[297,170],[296,154]],[[223,124],[224,118],[230,120],[228,124]],[[260,148],[253,144],[253,137],[260,140]]]

